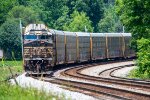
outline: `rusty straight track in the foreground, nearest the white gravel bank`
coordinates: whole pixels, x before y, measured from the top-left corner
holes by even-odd
[[[34,77],[35,78],[35,77]],[[78,91],[90,96],[94,96],[97,99],[114,99],[114,100],[149,100],[150,95],[142,94],[138,92],[132,92],[128,90],[96,85],[86,82],[77,82],[59,78],[37,78],[45,82],[63,85],[69,87],[69,90]]]

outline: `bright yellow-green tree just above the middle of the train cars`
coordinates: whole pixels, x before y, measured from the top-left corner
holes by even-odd
[[[86,27],[87,31],[93,32],[92,22],[89,20],[89,17],[86,16],[86,13],[74,11],[73,14],[71,14],[71,18],[72,21],[69,25],[65,25],[64,30],[84,32]]]

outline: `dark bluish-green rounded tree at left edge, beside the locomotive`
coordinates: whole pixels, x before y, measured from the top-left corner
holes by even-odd
[[[18,20],[7,20],[0,27],[0,47],[6,56],[14,52],[16,57],[21,56],[21,34]]]

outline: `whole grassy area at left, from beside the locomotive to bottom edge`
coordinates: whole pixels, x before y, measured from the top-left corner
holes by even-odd
[[[22,61],[0,61],[0,100],[64,100],[63,95],[58,97],[52,93],[4,82],[11,75],[8,67],[11,68],[13,74],[23,71]]]

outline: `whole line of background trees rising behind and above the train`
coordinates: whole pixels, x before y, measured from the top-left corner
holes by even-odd
[[[65,31],[85,31],[86,26],[89,32],[115,32],[119,30],[111,29],[116,27],[112,24],[120,25],[120,23],[116,22],[119,19],[115,17],[117,16],[115,10],[110,11],[114,9],[111,6],[114,2],[114,0],[2,0],[0,25],[8,19],[21,19],[23,26],[29,23],[44,23],[50,28]],[[111,14],[108,14],[109,12]],[[112,21],[110,24],[110,19],[115,22]]]

